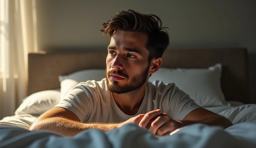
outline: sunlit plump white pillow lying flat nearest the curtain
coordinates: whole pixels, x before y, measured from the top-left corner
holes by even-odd
[[[15,111],[17,114],[40,115],[60,102],[60,91],[44,90],[29,95]]]

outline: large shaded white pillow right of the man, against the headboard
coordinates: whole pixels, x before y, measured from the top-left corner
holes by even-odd
[[[175,83],[201,107],[226,105],[221,90],[221,64],[208,69],[159,68],[149,81],[160,80],[163,83]]]

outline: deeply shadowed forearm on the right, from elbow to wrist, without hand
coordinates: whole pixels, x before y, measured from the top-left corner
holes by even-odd
[[[177,121],[177,120],[176,120]],[[226,119],[225,117],[210,117],[204,120],[200,120],[200,121],[177,121],[179,123],[181,123],[180,125],[186,126],[186,125],[191,125],[191,124],[195,124],[195,123],[204,123],[207,125],[217,125],[217,126],[222,126],[225,129],[228,128],[229,126],[232,126],[233,124]]]

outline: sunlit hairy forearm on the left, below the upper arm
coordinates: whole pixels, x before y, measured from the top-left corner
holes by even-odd
[[[105,124],[105,123],[81,123],[71,121],[61,117],[47,118],[41,121],[36,121],[30,126],[29,130],[49,130],[60,133],[66,136],[73,136],[80,131],[87,129],[100,129],[109,131],[118,128],[118,123]]]

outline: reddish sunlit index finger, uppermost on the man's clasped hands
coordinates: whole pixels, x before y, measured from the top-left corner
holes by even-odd
[[[146,128],[148,123],[160,114],[162,114],[162,111],[159,109],[146,113],[145,116],[141,119],[139,126],[142,128]]]

